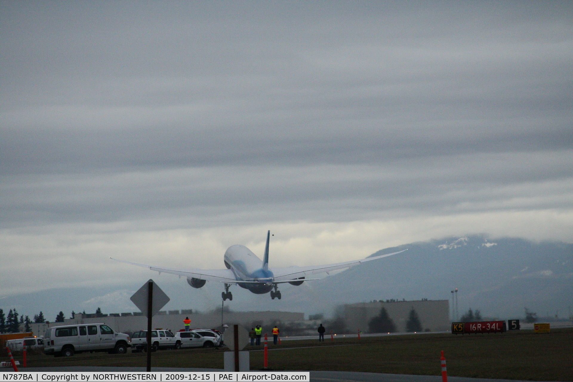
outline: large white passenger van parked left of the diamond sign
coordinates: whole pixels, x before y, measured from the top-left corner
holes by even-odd
[[[44,353],[54,357],[81,352],[125,354],[131,346],[129,336],[105,324],[53,326],[44,334]]]

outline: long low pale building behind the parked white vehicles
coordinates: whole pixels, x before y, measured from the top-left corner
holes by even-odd
[[[183,329],[183,320],[189,317],[191,328],[213,329],[227,325],[239,324],[245,327],[262,325],[269,333],[274,322],[303,321],[304,313],[297,312],[221,312],[215,313],[192,313],[193,310],[169,310],[161,311],[153,317],[153,328],[170,329],[178,332]],[[30,324],[34,335],[43,336],[46,329],[52,326],[82,325],[104,323],[120,333],[133,333],[137,330],[147,330],[147,317],[141,312],[111,313],[111,314],[76,314],[74,318],[66,318],[64,322],[50,322],[49,324]]]

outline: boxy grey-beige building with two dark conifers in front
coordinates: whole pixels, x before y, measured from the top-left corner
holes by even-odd
[[[398,332],[406,332],[406,322],[412,309],[418,314],[422,330],[430,332],[444,332],[450,330],[449,301],[448,300],[421,300],[421,301],[373,301],[358,304],[343,305],[343,316],[349,332],[358,330],[368,332],[368,323],[375,316],[379,316],[384,308],[388,317],[394,321]]]

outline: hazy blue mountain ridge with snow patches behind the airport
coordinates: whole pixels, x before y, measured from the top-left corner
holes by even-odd
[[[490,238],[486,235],[446,237],[388,247],[376,256],[407,249],[388,258],[364,263],[301,286],[281,285],[281,300],[255,295],[233,287],[231,310],[283,310],[306,314],[335,314],[336,306],[372,300],[450,300],[458,288],[458,316],[480,309],[482,316],[524,317],[524,308],[539,316],[568,316],[573,296],[573,244],[532,242],[523,238]],[[190,288],[168,274],[150,273],[170,296],[164,309],[210,310],[221,308],[222,286],[211,282]],[[104,313],[133,312],[129,296],[147,281],[100,288],[52,289],[5,297],[0,308],[19,313],[42,310],[53,321],[60,310]],[[57,296],[65,296],[58,300]],[[54,312],[51,312],[53,309]],[[53,313],[53,314],[52,314]],[[551,313],[551,314],[550,314]],[[51,319],[50,319],[51,318]]]

